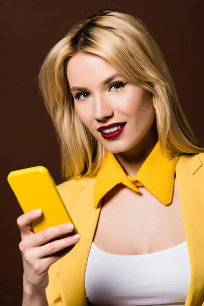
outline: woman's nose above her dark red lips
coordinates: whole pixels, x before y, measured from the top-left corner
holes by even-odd
[[[98,121],[109,119],[113,116],[113,108],[110,102],[103,96],[95,99],[94,103],[94,118]]]

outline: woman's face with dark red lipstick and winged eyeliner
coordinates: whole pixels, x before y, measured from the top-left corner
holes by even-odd
[[[134,151],[155,119],[151,94],[86,53],[70,58],[67,79],[75,110],[93,136],[113,153]]]

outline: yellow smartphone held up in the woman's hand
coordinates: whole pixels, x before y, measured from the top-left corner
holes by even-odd
[[[24,213],[34,209],[42,210],[42,215],[32,222],[35,234],[47,227],[66,222],[73,223],[55,182],[45,167],[36,166],[11,171],[7,180]],[[74,223],[73,226],[75,233],[71,232],[56,239],[79,234]]]

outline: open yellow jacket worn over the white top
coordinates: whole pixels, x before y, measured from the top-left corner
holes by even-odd
[[[204,306],[204,153],[180,155],[175,173],[191,267],[185,306]],[[88,305],[86,263],[100,213],[100,206],[93,206],[95,180],[83,177],[58,186],[81,239],[49,269],[49,306]]]

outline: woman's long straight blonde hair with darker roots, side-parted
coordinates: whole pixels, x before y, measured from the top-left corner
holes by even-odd
[[[60,142],[64,179],[95,176],[107,153],[74,109],[66,66],[79,52],[107,60],[127,81],[152,93],[163,155],[204,152],[181,109],[162,52],[146,25],[129,12],[102,9],[71,28],[47,54],[39,73],[40,91]]]

